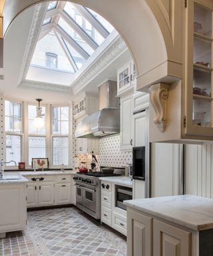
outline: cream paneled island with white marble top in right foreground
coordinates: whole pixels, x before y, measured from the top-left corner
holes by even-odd
[[[213,200],[195,195],[125,201],[128,256],[213,255]]]

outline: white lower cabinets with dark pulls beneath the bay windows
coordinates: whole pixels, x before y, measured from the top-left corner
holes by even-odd
[[[34,181],[33,181],[34,178]],[[33,182],[27,183],[27,207],[75,204],[73,176],[54,175],[45,177],[27,177]]]

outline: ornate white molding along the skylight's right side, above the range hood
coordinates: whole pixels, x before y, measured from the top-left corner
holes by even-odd
[[[123,39],[118,36],[116,39],[108,45],[107,49],[95,59],[95,61],[89,65],[87,69],[77,78],[73,83],[71,84],[71,87],[73,88],[73,93],[76,95],[103,69],[105,69],[112,61],[114,61],[116,58],[120,56],[124,51],[126,51],[128,48],[126,46],[126,43],[124,43]]]

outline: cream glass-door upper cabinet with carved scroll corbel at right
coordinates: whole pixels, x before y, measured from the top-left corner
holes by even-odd
[[[182,80],[150,85],[151,142],[213,140],[213,1],[185,3]]]

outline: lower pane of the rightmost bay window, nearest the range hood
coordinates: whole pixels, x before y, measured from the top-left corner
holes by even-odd
[[[69,139],[67,137],[53,138],[53,165],[69,164]]]

